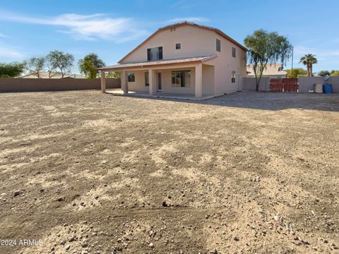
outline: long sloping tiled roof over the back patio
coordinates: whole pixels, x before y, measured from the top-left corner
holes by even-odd
[[[112,66],[105,66],[103,68],[98,68],[100,71],[114,71],[114,70],[121,70],[124,68],[143,68],[143,67],[150,67],[150,66],[162,66],[162,65],[173,65],[177,63],[192,63],[192,62],[204,62],[210,59],[215,59],[217,57],[215,54],[210,56],[194,56],[194,57],[185,57],[179,59],[166,59],[166,60],[157,60],[157,61],[143,61],[138,63],[121,63],[121,64],[114,64]]]

